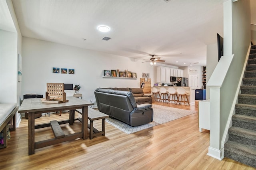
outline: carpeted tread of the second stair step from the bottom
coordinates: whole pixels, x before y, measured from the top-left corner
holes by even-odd
[[[228,129],[228,134],[233,134],[233,135],[236,135],[236,136],[240,136],[240,137],[256,140],[256,131],[255,130],[246,129],[246,128],[230,127]],[[255,150],[255,152],[256,152],[256,150]]]

